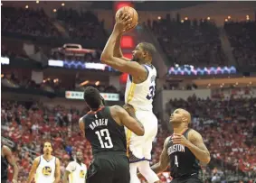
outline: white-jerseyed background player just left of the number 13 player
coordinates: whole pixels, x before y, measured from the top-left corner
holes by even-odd
[[[87,167],[82,163],[82,160],[82,153],[78,151],[76,153],[76,160],[71,161],[65,170],[63,183],[85,183]]]

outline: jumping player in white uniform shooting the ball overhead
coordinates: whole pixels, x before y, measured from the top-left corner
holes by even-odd
[[[114,30],[101,54],[101,62],[121,72],[128,73],[126,103],[133,105],[137,119],[144,125],[144,136],[138,137],[127,131],[128,155],[130,160],[130,182],[140,182],[137,169],[149,183],[159,182],[156,173],[150,169],[152,142],[157,133],[157,119],[152,112],[156,89],[156,69],[152,59],[156,52],[151,43],[141,42],[133,50],[133,58],[124,58],[120,50],[120,39],[130,23],[129,14],[116,18]]]

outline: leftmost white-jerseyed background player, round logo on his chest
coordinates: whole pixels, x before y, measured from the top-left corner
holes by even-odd
[[[33,160],[33,165],[27,179],[31,183],[58,183],[61,179],[60,160],[52,156],[51,142],[44,142],[43,155]]]

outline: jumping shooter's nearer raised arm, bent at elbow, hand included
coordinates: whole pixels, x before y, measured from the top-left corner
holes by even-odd
[[[123,14],[122,17],[117,20],[114,30],[109,37],[109,41],[107,41],[106,46],[102,51],[100,60],[102,63],[105,63],[114,69],[118,69],[121,72],[126,72],[133,77],[142,77],[141,75],[147,76],[147,69],[139,63],[135,61],[126,61],[114,56],[115,44],[130,21],[130,16],[128,14]]]

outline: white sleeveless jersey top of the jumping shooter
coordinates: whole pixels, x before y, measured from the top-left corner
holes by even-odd
[[[152,65],[143,65],[147,69],[147,79],[139,84],[132,82],[128,75],[125,102],[133,105],[135,110],[152,111],[153,97],[156,90],[156,69]]]

